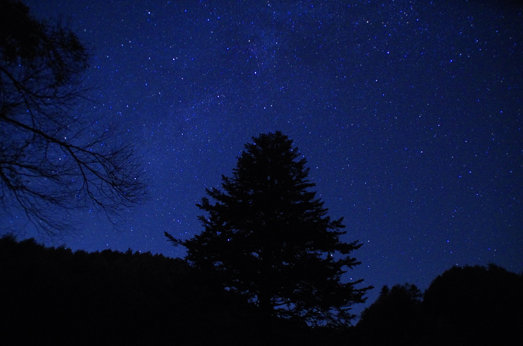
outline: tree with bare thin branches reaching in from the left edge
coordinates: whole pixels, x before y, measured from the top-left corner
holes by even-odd
[[[64,210],[94,206],[119,215],[143,199],[134,149],[112,129],[95,130],[81,112],[87,59],[69,29],[33,19],[19,1],[0,1],[4,224],[22,216],[53,236],[71,227]]]

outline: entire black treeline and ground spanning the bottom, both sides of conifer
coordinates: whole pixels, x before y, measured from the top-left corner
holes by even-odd
[[[180,259],[0,239],[1,344],[508,344],[521,340],[523,276],[453,267],[424,294],[384,286],[355,327],[275,318]]]

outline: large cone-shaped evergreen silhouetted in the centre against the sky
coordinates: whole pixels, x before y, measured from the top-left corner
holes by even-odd
[[[343,218],[331,221],[323,202],[308,188],[306,160],[280,132],[260,134],[238,157],[222,190],[207,189],[198,207],[204,231],[189,240],[166,233],[187,248],[186,259],[214,272],[231,291],[256,303],[266,316],[314,324],[346,324],[350,306],[364,302],[356,282],[342,283],[348,256],[361,247],[343,243]]]

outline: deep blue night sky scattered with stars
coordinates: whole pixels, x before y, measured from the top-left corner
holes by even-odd
[[[452,265],[523,270],[523,11],[502,1],[24,0],[92,57],[90,112],[143,157],[149,201],[82,211],[67,247],[184,257],[204,189],[282,131],[362,264],[424,290]],[[369,304],[367,304],[369,305]]]

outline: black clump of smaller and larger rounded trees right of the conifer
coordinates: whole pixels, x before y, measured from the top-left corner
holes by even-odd
[[[508,345],[523,340],[523,273],[489,264],[454,266],[422,294],[383,286],[353,340],[366,345]]]

